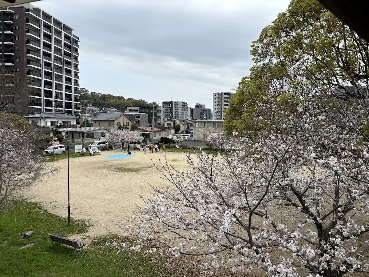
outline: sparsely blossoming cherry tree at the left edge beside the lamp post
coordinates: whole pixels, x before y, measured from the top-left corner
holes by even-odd
[[[19,206],[24,190],[52,170],[51,163],[32,153],[38,133],[23,117],[0,114],[0,214]],[[55,169],[54,169],[55,170]]]

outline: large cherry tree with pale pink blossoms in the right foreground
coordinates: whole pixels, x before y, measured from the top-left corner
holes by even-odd
[[[350,102],[351,117],[332,106],[333,121],[322,103],[334,99],[315,92],[297,99],[258,103],[258,141],[242,150],[186,154],[185,171],[164,156],[162,186],[141,195],[144,206],[122,227],[137,237],[130,249],[201,256],[209,274],[254,267],[268,276],[368,270],[368,142],[351,131],[368,123],[361,112],[366,100]]]

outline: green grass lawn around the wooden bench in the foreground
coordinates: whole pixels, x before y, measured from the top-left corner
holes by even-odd
[[[74,253],[72,247],[59,243],[51,248],[49,233],[74,239],[71,234],[84,233],[88,227],[73,219],[68,226],[66,218],[30,202],[0,215],[0,276],[198,276],[188,271],[185,261],[176,264],[176,259],[155,254],[117,253],[105,245],[113,240],[134,243],[123,236],[93,239],[83,252]],[[34,235],[24,237],[27,230],[34,230]]]

